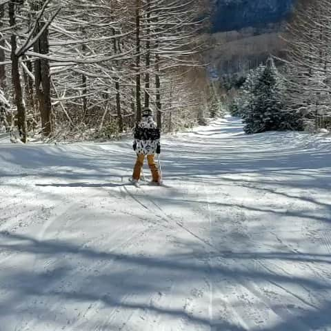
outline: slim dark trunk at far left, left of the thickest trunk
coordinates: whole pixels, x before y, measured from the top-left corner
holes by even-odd
[[[15,18],[15,1],[10,1],[8,4],[9,8],[9,22],[10,26],[16,25]],[[19,57],[16,55],[17,41],[16,34],[12,32],[11,37],[11,59],[12,59],[12,84],[14,86],[15,101],[17,106],[17,126],[19,128],[19,134],[21,141],[27,143],[28,141],[28,128],[26,124],[26,107],[23,101],[23,90],[21,86],[21,74],[19,72]]]

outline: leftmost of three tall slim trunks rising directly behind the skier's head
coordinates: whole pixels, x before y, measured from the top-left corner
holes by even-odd
[[[136,0],[136,120],[137,122],[141,119],[141,72],[140,72],[140,50],[141,50],[141,40],[140,40],[140,5],[141,1]]]

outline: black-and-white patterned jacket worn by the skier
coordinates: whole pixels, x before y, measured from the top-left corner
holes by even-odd
[[[143,117],[134,128],[133,149],[137,154],[152,155],[160,152],[160,130],[152,116]]]

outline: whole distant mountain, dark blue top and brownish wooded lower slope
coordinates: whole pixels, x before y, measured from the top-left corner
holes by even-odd
[[[209,61],[219,76],[245,72],[270,54],[282,56],[279,33],[296,0],[214,0]]]

